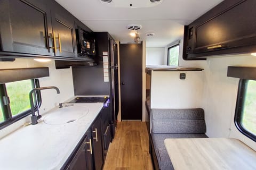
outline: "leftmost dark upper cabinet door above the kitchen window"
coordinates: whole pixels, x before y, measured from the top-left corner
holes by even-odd
[[[54,55],[50,50],[51,13],[44,1],[0,1],[1,50]]]

